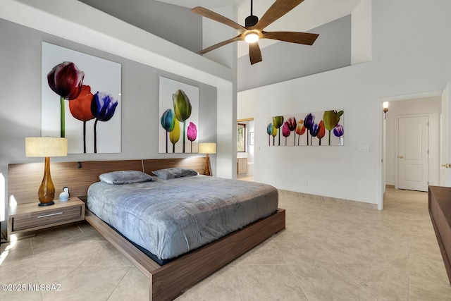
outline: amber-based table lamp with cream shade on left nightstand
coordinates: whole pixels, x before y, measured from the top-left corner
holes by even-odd
[[[55,186],[50,176],[50,157],[67,156],[68,140],[59,137],[25,137],[25,156],[44,156],[44,178],[37,191],[39,206],[55,204]]]

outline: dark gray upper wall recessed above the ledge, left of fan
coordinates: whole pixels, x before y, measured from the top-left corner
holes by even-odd
[[[202,17],[188,8],[154,0],[79,1],[183,48],[202,49]]]

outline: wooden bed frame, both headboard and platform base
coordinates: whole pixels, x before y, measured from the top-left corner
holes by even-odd
[[[68,186],[70,195],[86,199],[87,188],[101,173],[120,170],[152,171],[169,167],[193,168],[203,173],[205,157],[184,159],[143,159],[123,161],[52,162],[51,177],[56,191]],[[37,188],[42,181],[44,164],[9,164],[8,197],[18,204],[37,202]],[[285,209],[252,223],[209,245],[193,250],[160,266],[131,242],[113,231],[87,209],[86,221],[116,247],[150,280],[149,300],[173,300],[187,288],[213,274],[240,255],[285,228]]]

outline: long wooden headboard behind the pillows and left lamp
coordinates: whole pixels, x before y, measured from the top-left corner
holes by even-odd
[[[152,171],[161,168],[185,167],[204,173],[205,157],[192,156],[177,159],[142,159],[121,161],[80,161],[51,162],[51,180],[55,186],[55,198],[68,186],[70,195],[85,196],[87,188],[99,181],[101,173],[110,171],[144,171],[152,175]],[[8,199],[11,196],[18,204],[39,202],[37,190],[44,176],[44,162],[8,165]]]

